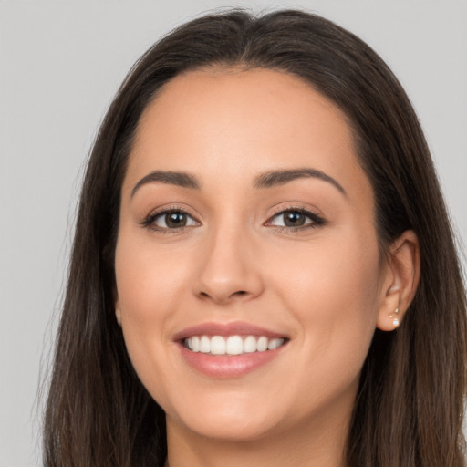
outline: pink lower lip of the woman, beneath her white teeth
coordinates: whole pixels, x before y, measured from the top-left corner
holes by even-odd
[[[265,350],[265,352],[215,356],[202,352],[192,352],[192,350],[183,347],[182,344],[179,347],[182,357],[192,368],[210,378],[229,379],[239,378],[254,371],[254,369],[263,367],[280,354],[285,344],[274,350]]]

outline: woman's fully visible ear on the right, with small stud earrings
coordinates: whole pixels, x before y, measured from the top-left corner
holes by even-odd
[[[392,331],[400,326],[415,296],[420,279],[420,244],[417,235],[411,230],[402,233],[390,245],[387,261],[377,317],[377,327],[382,331]]]

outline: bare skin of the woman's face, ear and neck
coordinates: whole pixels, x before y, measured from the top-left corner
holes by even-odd
[[[266,171],[311,168],[269,188]],[[200,189],[135,186],[184,171]],[[167,414],[168,464],[342,467],[358,377],[375,327],[393,330],[418,280],[404,233],[381,262],[374,196],[332,103],[284,73],[211,69],[174,78],[140,119],[121,190],[116,315],[142,384]],[[169,229],[160,209],[187,212]],[[280,225],[285,209],[317,213]],[[311,225],[311,226],[310,226]],[[165,228],[164,228],[165,227]],[[160,229],[160,230],[158,230]],[[290,340],[238,378],[190,367],[185,327],[244,321]]]

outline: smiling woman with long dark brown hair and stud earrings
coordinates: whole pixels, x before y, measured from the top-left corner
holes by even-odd
[[[88,162],[45,465],[464,465],[449,225],[356,36],[296,11],[178,28]]]

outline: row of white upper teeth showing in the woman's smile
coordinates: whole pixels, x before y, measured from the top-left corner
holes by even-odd
[[[212,355],[242,355],[244,353],[265,352],[274,350],[284,344],[284,338],[267,338],[265,336],[193,336],[185,339],[186,348],[192,352]]]

